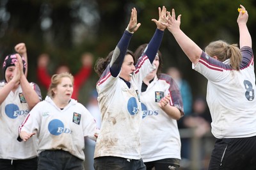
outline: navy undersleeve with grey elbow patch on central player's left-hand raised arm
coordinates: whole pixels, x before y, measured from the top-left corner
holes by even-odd
[[[110,73],[113,77],[116,77],[121,70],[121,66],[124,61],[124,57],[128,49],[131,37],[132,37],[132,33],[129,33],[128,31],[125,30],[124,35],[116,45],[116,49],[113,53],[113,56],[110,62]]]

